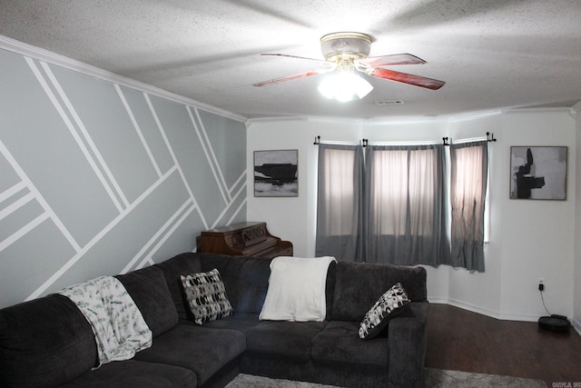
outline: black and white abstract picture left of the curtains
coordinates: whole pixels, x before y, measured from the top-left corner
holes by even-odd
[[[254,151],[254,196],[299,196],[299,150]]]

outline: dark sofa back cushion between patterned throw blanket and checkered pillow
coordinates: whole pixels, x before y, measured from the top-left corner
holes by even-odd
[[[115,277],[131,295],[153,337],[167,332],[178,323],[178,312],[160,268],[151,266]]]

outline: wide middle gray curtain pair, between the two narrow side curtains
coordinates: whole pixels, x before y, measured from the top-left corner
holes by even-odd
[[[449,264],[445,159],[442,144],[367,146],[366,262]]]

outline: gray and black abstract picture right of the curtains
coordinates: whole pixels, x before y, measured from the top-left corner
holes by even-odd
[[[511,146],[510,199],[566,200],[566,146]]]

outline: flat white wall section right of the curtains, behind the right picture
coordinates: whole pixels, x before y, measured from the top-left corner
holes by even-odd
[[[534,320],[546,315],[538,279],[545,279],[550,313],[572,316],[575,244],[576,134],[568,111],[516,112],[503,116],[499,162],[509,163],[510,145],[568,145],[566,201],[509,200],[508,175],[499,207],[503,290],[500,313]]]

